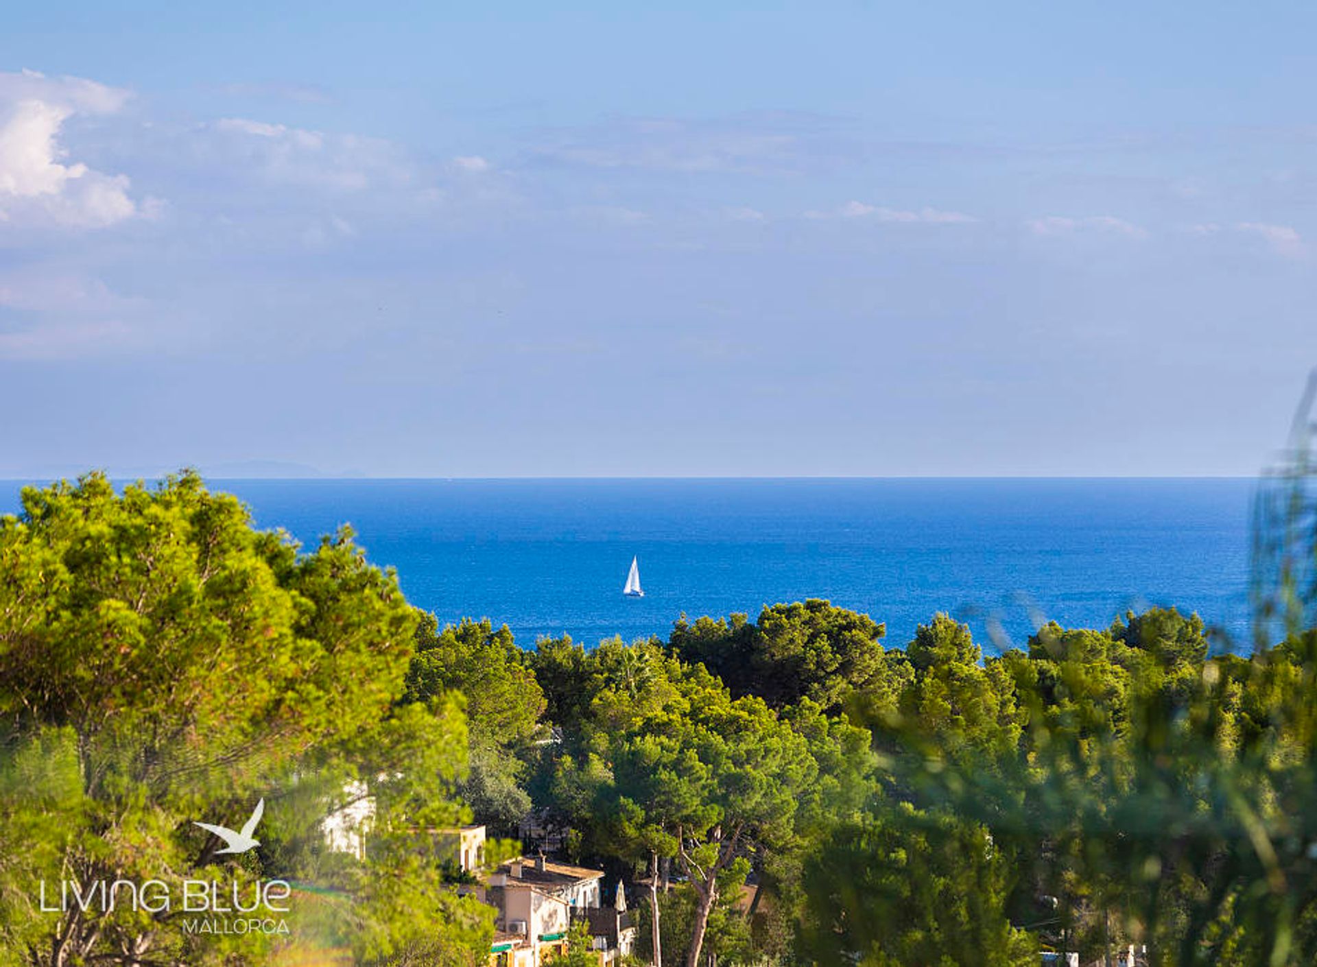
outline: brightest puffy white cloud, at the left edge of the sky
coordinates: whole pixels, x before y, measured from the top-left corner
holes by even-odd
[[[78,115],[111,115],[128,92],[82,78],[0,74],[0,221],[104,228],[140,213],[126,175],[68,163],[59,136]]]

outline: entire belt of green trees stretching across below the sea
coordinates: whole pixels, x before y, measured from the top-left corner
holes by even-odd
[[[936,615],[884,648],[826,601],[522,652],[414,611],[349,531],[303,552],[192,474],[29,489],[0,520],[0,967],[482,962],[493,914],[432,830],[460,801],[510,827],[531,793],[574,858],[653,877],[668,964],[1130,942],[1159,967],[1313,963],[1317,631],[1295,580],[1284,640],[1247,657],[1173,609],[996,657]],[[327,851],[321,818],[363,796],[365,859]],[[259,797],[252,852],[194,825]],[[38,902],[42,879],[188,877],[292,881],[292,937]],[[578,934],[558,963],[594,960]]]

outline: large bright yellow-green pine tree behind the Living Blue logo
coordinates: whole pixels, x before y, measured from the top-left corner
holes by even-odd
[[[252,528],[195,474],[116,494],[90,474],[26,489],[0,519],[0,963],[265,963],[296,951],[395,958],[487,945],[486,908],[417,859],[460,809],[466,730],[450,702],[399,702],[415,617],[341,531],[311,552]],[[365,784],[366,862],[319,822]],[[225,858],[269,802],[259,848]],[[291,935],[188,934],[178,906],[41,909],[41,884],[299,884]],[[421,937],[417,922],[429,922]],[[435,925],[439,925],[437,927]]]

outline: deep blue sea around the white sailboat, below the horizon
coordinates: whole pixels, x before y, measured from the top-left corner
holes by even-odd
[[[350,523],[444,621],[523,646],[828,598],[903,646],[936,611],[1022,643],[1173,603],[1247,642],[1249,480],[227,480],[306,543]],[[0,484],[0,512],[18,484]],[[622,588],[640,559],[645,597]],[[998,642],[1001,638],[998,636]]]

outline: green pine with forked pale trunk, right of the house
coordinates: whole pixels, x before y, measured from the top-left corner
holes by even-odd
[[[572,804],[595,850],[676,859],[697,897],[686,953],[695,963],[726,877],[744,881],[749,870],[741,855],[793,842],[818,764],[763,700],[732,698],[655,643],[605,643],[589,664],[599,688],[578,752],[558,760],[554,797]]]

